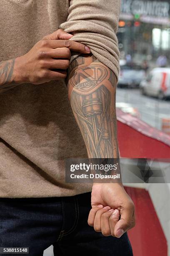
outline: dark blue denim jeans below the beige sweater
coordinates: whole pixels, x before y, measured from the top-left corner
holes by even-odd
[[[87,224],[90,199],[90,192],[72,197],[0,198],[0,247],[29,247],[31,256],[42,256],[50,245],[55,256],[133,256],[127,233],[121,238],[105,237]]]

